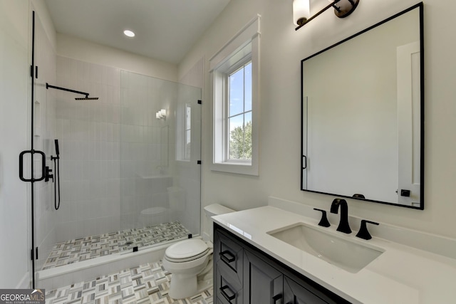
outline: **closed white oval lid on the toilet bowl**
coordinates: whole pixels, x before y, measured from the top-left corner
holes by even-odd
[[[204,256],[207,251],[209,251],[209,247],[201,239],[188,239],[168,247],[165,256],[169,261],[188,261]]]

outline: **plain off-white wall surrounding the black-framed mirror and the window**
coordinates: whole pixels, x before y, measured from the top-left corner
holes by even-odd
[[[346,19],[326,11],[294,31],[291,0],[232,0],[180,63],[179,75],[185,75],[203,56],[211,58],[247,21],[261,14],[260,172],[259,177],[247,177],[210,171],[212,100],[206,68],[203,206],[218,202],[247,209],[267,204],[267,196],[272,195],[329,209],[333,196],[301,192],[299,185],[300,61],[416,2],[361,0],[358,9]],[[456,130],[456,67],[452,60],[456,41],[447,34],[453,26],[452,5],[452,0],[425,1],[425,210],[349,200],[353,216],[456,237],[452,224],[456,214],[456,143],[450,131]],[[311,9],[311,13],[314,11],[316,8]]]

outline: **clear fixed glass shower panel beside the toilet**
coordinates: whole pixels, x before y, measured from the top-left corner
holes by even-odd
[[[120,248],[199,234],[201,89],[122,71]]]

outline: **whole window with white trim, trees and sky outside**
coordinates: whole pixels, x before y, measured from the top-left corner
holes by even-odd
[[[209,60],[214,171],[258,175],[259,16]]]

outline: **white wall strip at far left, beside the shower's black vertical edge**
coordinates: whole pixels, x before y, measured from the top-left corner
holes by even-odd
[[[0,288],[28,284],[27,184],[19,153],[30,146],[27,125],[28,1],[0,1]]]

